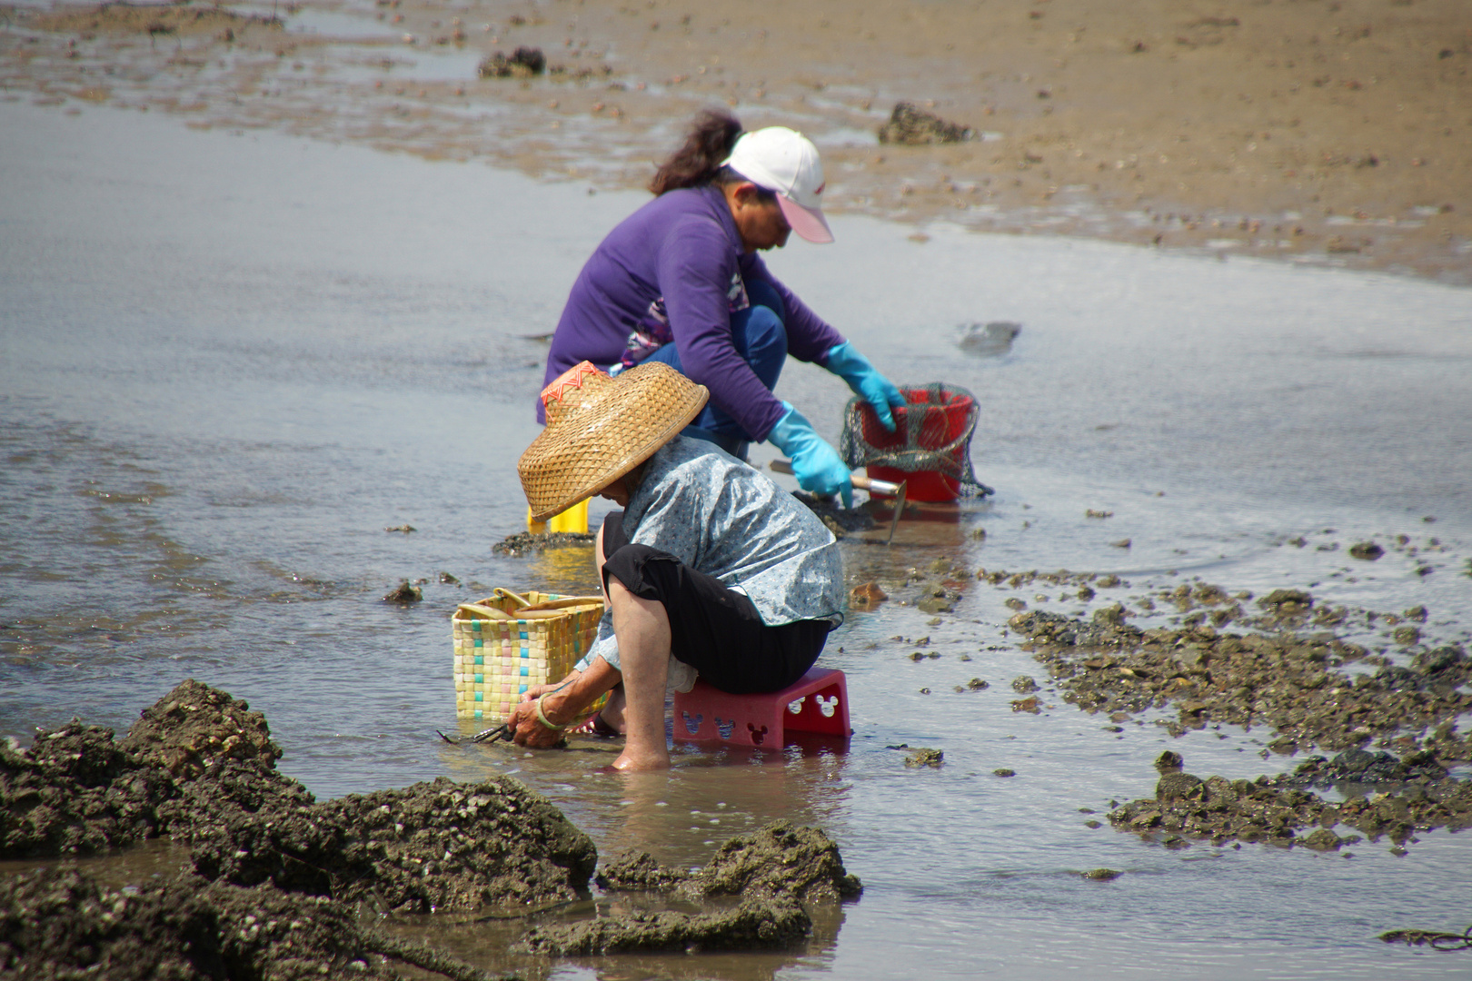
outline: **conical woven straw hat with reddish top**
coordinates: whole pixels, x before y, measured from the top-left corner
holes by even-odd
[[[531,516],[546,521],[634,469],[679,435],[710,397],[662,362],[609,378],[589,362],[542,390],[548,428],[517,460]]]

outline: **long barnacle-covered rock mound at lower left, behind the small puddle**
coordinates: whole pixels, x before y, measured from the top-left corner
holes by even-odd
[[[440,778],[316,803],[280,774],[265,716],[185,681],[128,735],[72,722],[0,744],[0,857],[84,855],[169,834],[233,885],[402,912],[586,894],[592,840],[509,777]]]

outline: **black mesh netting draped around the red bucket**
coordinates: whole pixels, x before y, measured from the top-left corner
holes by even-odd
[[[991,494],[972,469],[976,396],[958,385],[933,382],[899,390],[907,406],[896,407],[895,431],[879,424],[863,399],[843,409],[839,453],[851,468],[889,466],[905,474],[933,471],[957,481],[960,494]]]

